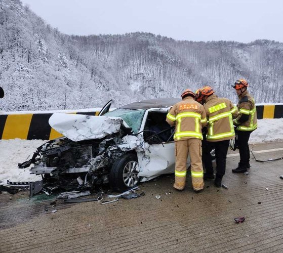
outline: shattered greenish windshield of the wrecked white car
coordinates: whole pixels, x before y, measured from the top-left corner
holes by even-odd
[[[125,122],[130,126],[130,128],[132,128],[134,134],[137,134],[140,130],[144,113],[145,109],[133,110],[118,108],[116,110],[105,113],[103,116],[123,118]]]

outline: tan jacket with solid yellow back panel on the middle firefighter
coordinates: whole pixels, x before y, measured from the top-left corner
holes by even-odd
[[[208,116],[207,140],[214,142],[233,139],[233,118],[238,115],[237,107],[230,100],[213,94],[208,97],[205,109]]]

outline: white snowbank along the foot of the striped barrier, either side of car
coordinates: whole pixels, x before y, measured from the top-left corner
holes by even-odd
[[[283,118],[260,119],[258,129],[252,133],[250,143],[264,143],[283,141]],[[45,141],[42,140],[0,140],[0,181],[7,180],[25,182],[40,180],[41,176],[29,175],[28,168],[18,169],[19,162],[30,159],[38,146]]]

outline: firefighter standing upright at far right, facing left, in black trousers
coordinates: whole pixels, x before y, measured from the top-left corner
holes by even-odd
[[[233,120],[236,126],[236,145],[240,153],[238,167],[234,168],[234,173],[245,173],[250,168],[249,139],[251,133],[257,129],[257,110],[254,98],[249,94],[248,82],[245,79],[236,80],[232,86],[239,98],[237,104],[239,115]]]

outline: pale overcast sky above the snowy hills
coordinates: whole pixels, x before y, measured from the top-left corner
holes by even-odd
[[[61,32],[283,42],[283,0],[22,0]]]

